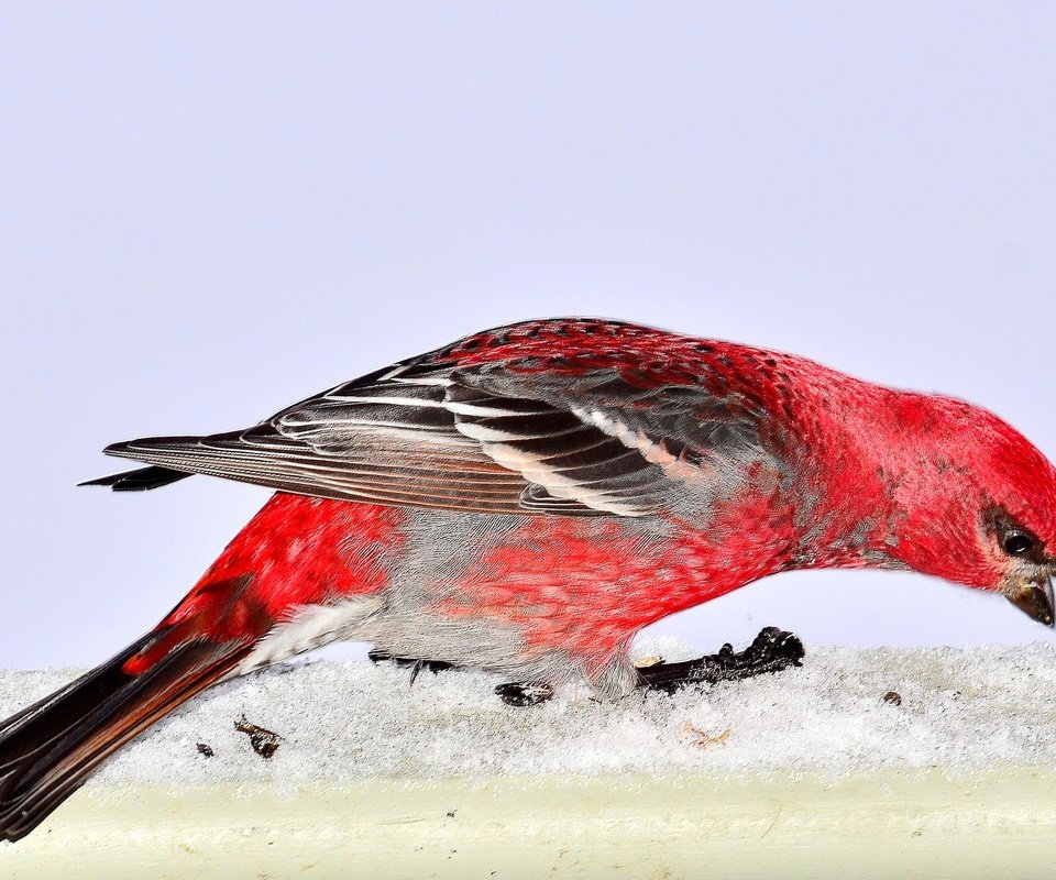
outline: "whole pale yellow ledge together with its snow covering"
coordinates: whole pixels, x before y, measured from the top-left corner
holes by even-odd
[[[70,674],[0,673],[0,714]],[[408,681],[318,662],[216,689],[0,845],[0,877],[1056,871],[1048,645],[814,649],[784,674],[617,705],[569,689],[512,708],[472,672]],[[270,758],[243,717],[282,737]]]

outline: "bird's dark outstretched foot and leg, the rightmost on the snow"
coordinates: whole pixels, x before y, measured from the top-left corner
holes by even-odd
[[[789,667],[802,666],[802,660],[803,642],[799,637],[776,626],[768,626],[743,651],[735,652],[734,646],[726,644],[718,653],[681,663],[654,663],[637,671],[642,688],[673,693],[686,684],[714,684],[748,679],[763,672],[780,672]]]

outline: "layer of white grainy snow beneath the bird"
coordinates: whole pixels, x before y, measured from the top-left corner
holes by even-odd
[[[685,659],[673,637],[636,656]],[[0,672],[8,715],[73,671]],[[569,777],[703,772],[1056,766],[1056,648],[809,650],[774,675],[638,693],[618,703],[569,686],[515,708],[481,672],[410,671],[388,663],[275,667],[212,689],[121,750],[89,787],[128,783],[277,790],[366,779]],[[884,701],[894,691],[901,705]],[[241,716],[283,737],[265,760],[234,729]],[[728,733],[727,733],[728,732]],[[714,741],[708,741],[713,739]],[[199,754],[197,744],[212,749]]]

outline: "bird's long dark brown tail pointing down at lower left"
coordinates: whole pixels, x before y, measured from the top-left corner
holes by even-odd
[[[251,649],[189,641],[145,672],[125,672],[125,662],[158,635],[144,636],[0,723],[0,840],[33,831],[103,759],[223,676]]]

